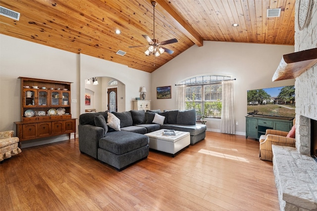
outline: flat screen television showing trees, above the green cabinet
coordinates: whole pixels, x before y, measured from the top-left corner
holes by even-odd
[[[248,115],[295,118],[295,86],[248,90],[247,103]]]

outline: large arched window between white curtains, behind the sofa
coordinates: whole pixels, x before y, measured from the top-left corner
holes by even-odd
[[[197,120],[202,117],[221,118],[221,82],[224,80],[231,80],[231,77],[204,75],[180,82],[185,85],[185,109],[195,109]]]

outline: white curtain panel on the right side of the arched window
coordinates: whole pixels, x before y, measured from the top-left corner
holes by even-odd
[[[222,109],[220,132],[235,134],[235,116],[233,109],[233,81],[222,81]]]

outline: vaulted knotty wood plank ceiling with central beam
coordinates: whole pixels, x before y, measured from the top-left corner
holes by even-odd
[[[203,41],[294,45],[295,0],[157,0],[155,38],[174,51],[146,56],[142,35],[153,39],[151,0],[1,0],[20,12],[19,21],[0,15],[0,33],[73,53],[153,72]],[[266,17],[281,8],[280,17]],[[232,27],[238,23],[238,27]],[[121,30],[120,35],[114,31]],[[124,56],[116,54],[126,52]]]

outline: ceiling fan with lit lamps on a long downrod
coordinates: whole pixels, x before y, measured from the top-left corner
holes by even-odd
[[[155,56],[159,56],[160,54],[162,54],[163,52],[172,54],[174,53],[174,51],[162,47],[161,45],[165,45],[165,44],[170,44],[170,43],[174,43],[174,42],[178,42],[175,38],[171,39],[171,40],[167,40],[167,41],[163,41],[163,42],[159,42],[158,39],[155,39],[155,6],[157,5],[157,2],[152,0],[151,1],[152,6],[153,6],[153,40],[147,36],[147,35],[142,35],[148,42],[148,45],[138,45],[138,46],[129,46],[129,47],[143,47],[143,46],[149,46],[149,48],[144,52],[147,56],[150,55],[155,55]]]

